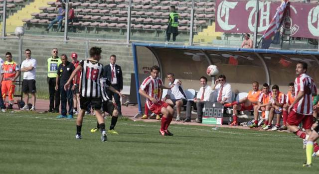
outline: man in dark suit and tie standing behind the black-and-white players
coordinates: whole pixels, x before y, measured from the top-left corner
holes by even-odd
[[[123,89],[122,69],[119,65],[116,65],[115,62],[116,62],[116,56],[111,55],[110,64],[104,67],[103,76],[110,80],[112,87],[114,87],[116,90],[121,92],[121,90]],[[118,106],[119,114],[122,115],[121,101],[120,101],[119,94],[111,90],[108,90],[107,94],[111,100],[112,100],[112,97],[114,96],[115,103]]]

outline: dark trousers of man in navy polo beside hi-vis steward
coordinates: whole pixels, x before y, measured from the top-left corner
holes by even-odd
[[[60,98],[61,98],[61,115],[66,115],[66,101],[69,104],[69,115],[73,115],[73,92],[72,86],[68,90],[64,90],[63,86],[60,85]]]

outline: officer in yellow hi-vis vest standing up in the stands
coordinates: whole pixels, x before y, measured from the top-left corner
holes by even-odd
[[[166,30],[167,42],[170,40],[170,33],[173,34],[173,41],[176,40],[176,36],[178,35],[178,13],[176,13],[175,10],[176,9],[174,5],[170,6],[168,26]]]

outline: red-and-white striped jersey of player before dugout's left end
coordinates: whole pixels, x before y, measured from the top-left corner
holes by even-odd
[[[160,89],[160,86],[162,85],[163,85],[163,82],[161,81],[160,78],[153,79],[152,76],[149,76],[143,81],[140,88],[144,90],[149,96],[154,97],[157,100],[160,100],[159,89]],[[153,102],[147,98],[146,104],[150,108]]]

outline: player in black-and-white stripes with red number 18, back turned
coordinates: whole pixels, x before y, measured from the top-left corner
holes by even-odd
[[[70,84],[73,81],[73,78],[76,76],[78,71],[81,72],[80,76],[80,112],[76,119],[76,139],[81,139],[81,129],[83,117],[85,110],[89,103],[91,103],[92,108],[95,112],[95,117],[98,120],[101,130],[101,140],[107,141],[107,135],[105,131],[104,118],[101,115],[101,86],[100,78],[103,74],[103,65],[99,63],[101,59],[101,48],[92,47],[90,48],[90,58],[88,60],[80,61],[78,67],[73,71],[68,82],[64,85],[65,90],[70,87]]]

